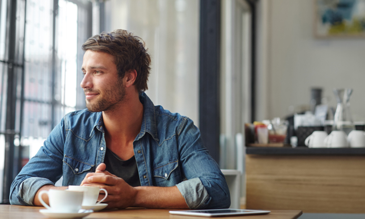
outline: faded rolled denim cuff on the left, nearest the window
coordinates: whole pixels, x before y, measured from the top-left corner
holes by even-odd
[[[50,180],[39,177],[31,177],[24,180],[19,185],[17,199],[19,203],[25,202],[27,205],[34,206],[34,197],[37,194],[37,191],[44,185],[49,185],[52,183]]]

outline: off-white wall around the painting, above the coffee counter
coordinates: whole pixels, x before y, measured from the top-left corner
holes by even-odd
[[[259,1],[257,120],[300,110],[322,87],[333,107],[333,88],[354,89],[353,120],[365,121],[365,38],[315,38],[313,20],[313,0]]]

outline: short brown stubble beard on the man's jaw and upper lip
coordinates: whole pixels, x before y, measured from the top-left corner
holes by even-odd
[[[113,85],[104,90],[102,94],[99,91],[99,97],[94,103],[86,100],[86,108],[91,112],[101,112],[115,110],[118,104],[126,97],[126,89],[123,86],[123,80],[118,79]],[[94,92],[92,89],[84,89],[84,92]],[[96,90],[97,91],[97,90]]]

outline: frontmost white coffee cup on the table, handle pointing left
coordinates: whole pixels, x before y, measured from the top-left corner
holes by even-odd
[[[43,201],[43,194],[48,195],[50,205]],[[81,209],[83,196],[83,192],[50,189],[49,191],[40,191],[38,199],[44,207],[53,212],[77,213]]]

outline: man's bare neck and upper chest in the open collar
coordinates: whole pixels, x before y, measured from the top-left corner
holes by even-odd
[[[103,111],[107,147],[117,154],[128,148],[130,150],[141,130],[142,120],[143,104],[138,93],[127,95],[114,110]]]

